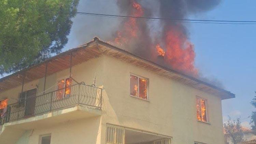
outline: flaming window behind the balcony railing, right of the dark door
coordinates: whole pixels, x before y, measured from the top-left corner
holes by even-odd
[[[71,95],[71,78],[58,81],[57,100]]]

